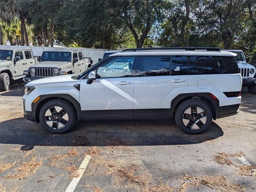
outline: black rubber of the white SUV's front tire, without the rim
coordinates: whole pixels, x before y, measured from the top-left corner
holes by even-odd
[[[44,115],[45,115],[46,111],[51,106],[59,106],[59,107],[63,108],[64,110],[66,110],[66,112],[68,113],[68,124],[64,128],[59,129],[59,130],[52,129],[46,124],[46,122],[44,120]],[[74,107],[69,102],[67,102],[65,100],[61,100],[61,99],[56,99],[56,100],[49,101],[42,106],[42,108],[39,112],[39,120],[46,131],[51,132],[51,133],[60,134],[60,133],[66,133],[66,132],[70,131],[76,124],[77,117],[76,117],[76,111],[74,110]]]

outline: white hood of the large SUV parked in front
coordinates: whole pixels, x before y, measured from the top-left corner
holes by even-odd
[[[72,79],[71,78],[72,76],[74,76],[74,74],[46,77],[46,78],[31,81],[27,83],[26,86],[36,86],[38,84],[46,84],[48,86],[49,84],[54,84],[54,83],[61,83],[61,82],[66,83],[66,82],[77,81],[76,79]]]

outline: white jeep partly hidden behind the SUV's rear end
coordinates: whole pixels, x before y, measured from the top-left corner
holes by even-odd
[[[248,64],[249,58],[244,56],[242,50],[224,50],[237,54],[236,61],[239,67],[239,72],[242,75],[243,87],[247,87],[248,92],[256,94],[256,69],[251,64]]]

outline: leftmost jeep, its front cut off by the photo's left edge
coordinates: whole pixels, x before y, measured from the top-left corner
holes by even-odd
[[[10,80],[23,78],[23,71],[36,64],[31,49],[0,48],[0,90],[9,89]]]

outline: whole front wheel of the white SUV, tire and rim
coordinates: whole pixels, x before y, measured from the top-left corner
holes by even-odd
[[[66,133],[77,122],[76,110],[68,101],[54,99],[42,106],[39,112],[39,120],[48,132]]]

